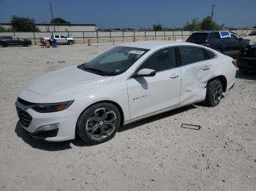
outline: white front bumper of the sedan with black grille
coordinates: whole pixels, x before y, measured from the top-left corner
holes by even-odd
[[[61,112],[39,113],[33,109],[26,109],[16,102],[16,109],[23,129],[31,136],[45,141],[67,141],[75,139],[77,114],[72,109]],[[56,125],[58,128],[39,130],[45,125]]]

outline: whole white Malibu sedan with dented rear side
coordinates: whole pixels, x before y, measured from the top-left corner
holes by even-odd
[[[121,125],[181,106],[217,106],[236,62],[187,42],[131,42],[31,82],[16,101],[21,126],[45,141],[98,144]]]

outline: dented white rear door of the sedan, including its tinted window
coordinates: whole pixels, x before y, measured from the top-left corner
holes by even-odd
[[[206,83],[214,74],[211,58],[216,57],[202,47],[181,46],[181,99],[180,104],[201,101],[206,93]]]

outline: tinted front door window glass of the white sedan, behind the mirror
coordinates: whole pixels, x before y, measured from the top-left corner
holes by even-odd
[[[176,67],[175,47],[165,48],[151,55],[140,67],[140,69],[154,69],[163,71]]]

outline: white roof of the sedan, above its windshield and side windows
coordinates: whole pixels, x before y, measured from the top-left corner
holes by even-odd
[[[138,47],[144,49],[157,49],[161,47],[177,46],[177,45],[189,45],[189,42],[180,41],[138,41],[138,42],[127,42],[124,44],[119,44],[118,46],[123,47]],[[197,44],[192,44],[197,45]]]

